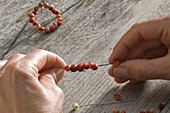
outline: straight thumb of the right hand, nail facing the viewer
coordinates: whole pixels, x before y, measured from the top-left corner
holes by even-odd
[[[151,60],[130,60],[114,69],[115,77],[134,80],[169,79],[170,56]]]

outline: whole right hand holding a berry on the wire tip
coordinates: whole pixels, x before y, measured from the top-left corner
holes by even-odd
[[[170,16],[135,24],[117,43],[109,62],[115,81],[170,80]]]

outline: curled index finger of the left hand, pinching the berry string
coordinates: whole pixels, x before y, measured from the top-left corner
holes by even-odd
[[[36,49],[27,54],[23,61],[29,62],[34,68],[33,70],[38,74],[39,71],[44,71],[52,68],[64,68],[65,62],[57,54],[49,51]]]

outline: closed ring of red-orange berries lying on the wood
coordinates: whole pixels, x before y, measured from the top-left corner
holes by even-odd
[[[41,24],[38,23],[38,21],[36,21],[35,16],[36,16],[39,8],[42,8],[42,7],[50,10],[53,14],[55,14],[56,19],[58,21],[54,22],[53,25],[51,25],[49,27],[41,26]],[[63,19],[61,18],[61,15],[60,15],[60,11],[55,9],[53,5],[49,5],[48,3],[39,3],[38,6],[34,8],[34,11],[32,13],[28,14],[28,16],[30,18],[30,23],[32,23],[34,26],[36,26],[36,28],[39,29],[40,31],[45,31],[46,33],[55,31],[58,26],[62,25],[62,21],[63,21]]]

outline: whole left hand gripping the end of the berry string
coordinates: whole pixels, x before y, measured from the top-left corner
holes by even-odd
[[[59,56],[45,50],[12,55],[0,70],[0,112],[62,113],[64,94],[56,83],[64,67]]]

